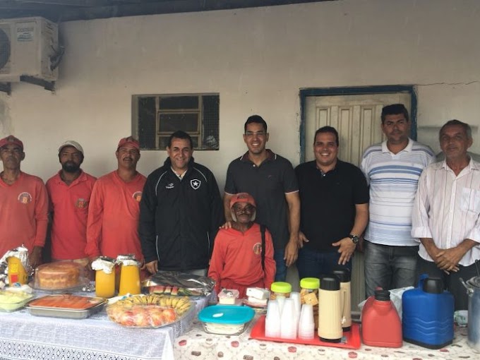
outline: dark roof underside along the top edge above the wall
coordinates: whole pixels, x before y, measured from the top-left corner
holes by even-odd
[[[61,22],[320,1],[337,0],[0,0],[0,19],[42,16]]]

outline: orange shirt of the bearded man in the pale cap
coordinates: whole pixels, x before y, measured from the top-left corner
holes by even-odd
[[[70,185],[60,172],[47,181],[52,222],[52,258],[74,260],[86,258],[88,205],[97,178],[81,172]]]

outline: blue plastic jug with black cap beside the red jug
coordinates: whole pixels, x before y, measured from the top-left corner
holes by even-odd
[[[453,341],[453,295],[443,289],[443,280],[420,276],[415,289],[402,295],[403,340],[440,349]]]

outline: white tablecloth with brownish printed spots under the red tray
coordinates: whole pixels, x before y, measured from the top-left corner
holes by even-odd
[[[256,316],[258,318],[258,315]],[[444,349],[431,350],[404,342],[399,349],[368,347],[358,350],[320,347],[314,345],[268,342],[249,338],[256,318],[241,335],[212,335],[203,331],[198,320],[191,330],[174,341],[175,359],[244,359],[244,360],[311,360],[311,359],[480,359],[480,352],[467,344],[467,328],[455,330],[453,344]]]

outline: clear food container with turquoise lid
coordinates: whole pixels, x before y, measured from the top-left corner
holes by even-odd
[[[198,320],[210,334],[240,335],[254,315],[255,311],[248,306],[215,305],[203,308]]]

